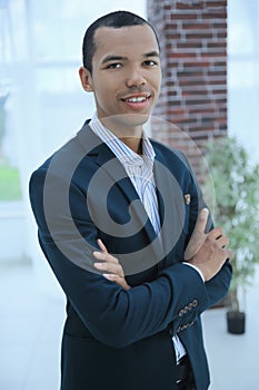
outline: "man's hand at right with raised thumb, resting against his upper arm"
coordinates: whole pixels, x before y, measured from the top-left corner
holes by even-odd
[[[229,238],[221,227],[205,233],[208,216],[209,211],[202,208],[185,252],[185,261],[197,266],[206,282],[220,271],[227,259],[232,257],[232,251],[227,248]]]

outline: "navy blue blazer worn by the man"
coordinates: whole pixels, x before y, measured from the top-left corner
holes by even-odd
[[[200,314],[227,294],[231,267],[203,283],[182,264],[202,196],[186,157],[152,146],[159,238],[123,167],[87,124],[31,176],[39,242],[68,302],[62,390],[173,390],[173,334],[197,390],[209,386]],[[98,237],[121,262],[129,291],[93,269]]]

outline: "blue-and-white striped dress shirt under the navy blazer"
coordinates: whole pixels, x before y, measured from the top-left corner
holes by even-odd
[[[97,115],[92,117],[89,126],[122,164],[146,208],[155,232],[158,234],[161,226],[153,178],[156,153],[149,138],[145,133],[142,134],[142,155],[140,156],[103,126]],[[176,350],[176,358],[177,361],[179,361],[179,359],[186,354],[186,350],[177,335],[172,338],[172,341]]]

